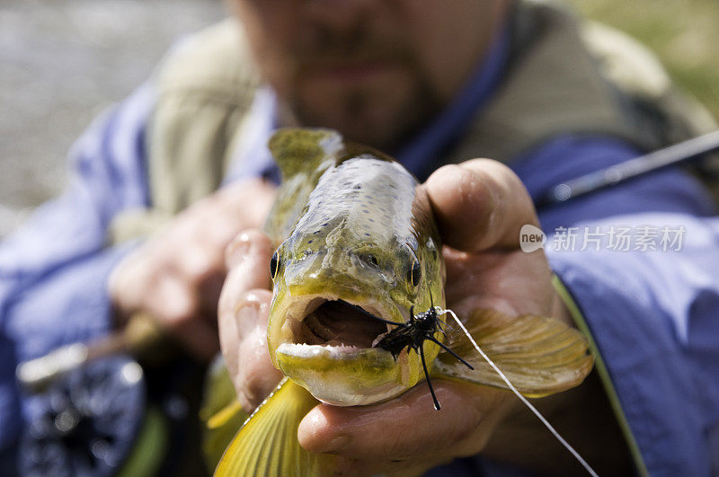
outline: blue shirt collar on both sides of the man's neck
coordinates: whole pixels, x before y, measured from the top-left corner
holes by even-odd
[[[420,180],[424,181],[437,167],[440,155],[461,136],[492,96],[502,79],[509,44],[509,28],[503,28],[456,99],[395,153],[397,160]],[[275,93],[264,86],[255,94],[226,182],[258,176],[280,181],[280,172],[267,147],[278,127],[276,118]]]

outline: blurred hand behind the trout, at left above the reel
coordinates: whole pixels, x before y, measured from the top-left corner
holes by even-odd
[[[217,300],[225,250],[242,230],[262,225],[270,184],[229,185],[192,205],[112,272],[109,291],[120,320],[146,312],[200,358],[218,349]]]

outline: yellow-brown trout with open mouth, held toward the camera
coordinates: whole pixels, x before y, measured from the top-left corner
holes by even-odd
[[[217,475],[330,472],[332,456],[297,443],[300,420],[320,401],[367,405],[418,384],[417,349],[385,349],[383,339],[411,321],[411,310],[445,306],[439,234],[411,173],[332,130],[282,129],[270,148],[282,184],[265,227],[278,244],[268,347],[287,377],[237,432]],[[554,319],[477,310],[463,322],[525,396],[569,389],[592,367],[587,340]],[[438,328],[430,336],[474,367],[428,336],[422,352],[432,377],[506,387],[461,332]],[[238,409],[232,403],[213,425]]]

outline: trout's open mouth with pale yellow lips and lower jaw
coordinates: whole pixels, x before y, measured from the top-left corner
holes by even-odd
[[[342,297],[344,298],[344,297]],[[348,303],[349,301],[349,303]],[[392,324],[405,320],[401,307],[336,295],[294,296],[280,330],[268,336],[273,362],[322,402],[339,406],[372,404],[401,393],[410,383],[410,361],[377,347]],[[369,316],[371,314],[372,316]],[[409,311],[406,311],[409,314]]]

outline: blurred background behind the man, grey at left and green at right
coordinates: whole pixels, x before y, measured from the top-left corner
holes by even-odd
[[[642,40],[719,117],[719,2],[566,2]],[[0,237],[62,190],[67,150],[94,116],[223,15],[219,0],[2,0]]]

